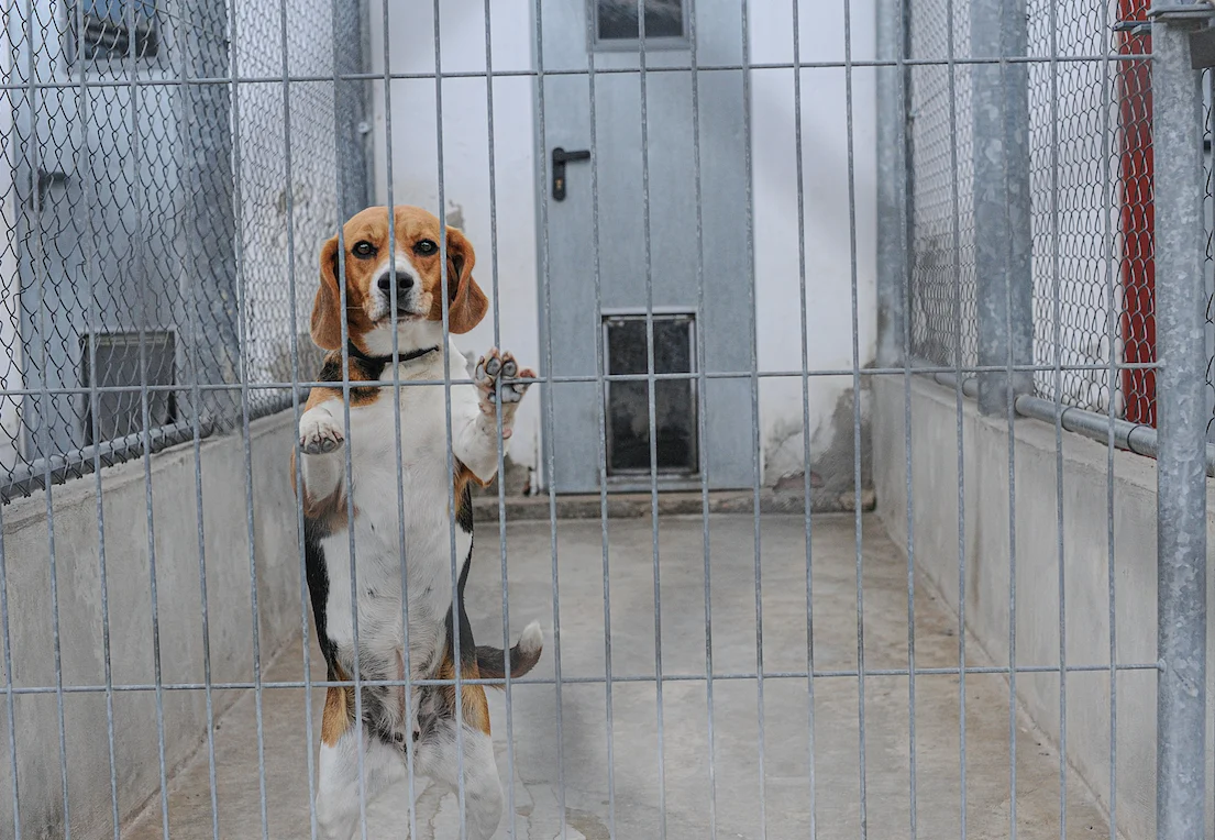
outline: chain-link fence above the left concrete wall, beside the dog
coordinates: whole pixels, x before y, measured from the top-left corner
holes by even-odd
[[[358,9],[4,5],[0,496],[290,404],[366,203]]]

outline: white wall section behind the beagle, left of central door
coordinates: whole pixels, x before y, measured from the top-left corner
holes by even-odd
[[[394,73],[434,73],[434,5],[420,0],[388,0],[389,66]],[[384,69],[382,0],[371,4],[371,63]],[[495,71],[531,67],[531,0],[493,0]],[[485,4],[447,0],[440,19],[443,72],[484,72]],[[392,201],[439,210],[437,100],[434,79],[395,80],[390,109],[384,86],[374,91],[374,163],[372,195],[386,203],[388,122],[391,119]],[[447,210],[458,208],[458,222],[476,249],[474,277],[493,294],[490,207],[490,130],[486,80],[446,79],[442,85],[443,188]],[[493,165],[497,190],[498,305],[485,321],[458,340],[464,353],[481,354],[493,344],[495,322],[501,345],[532,367],[539,362],[536,289],[536,203],[532,133],[532,81],[527,77],[493,81]],[[453,220],[454,222],[456,220]],[[539,434],[539,400],[520,407],[512,456],[535,464]]]

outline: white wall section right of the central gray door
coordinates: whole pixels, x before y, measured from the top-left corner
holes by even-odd
[[[751,55],[756,63],[792,63],[793,21],[789,2],[751,4]],[[801,0],[798,52],[804,62],[843,62],[843,0]],[[874,2],[852,1],[852,58],[874,58]],[[798,256],[797,124],[791,69],[752,74],[752,137],[755,162],[756,297],[759,368],[802,367],[802,327]],[[858,359],[874,361],[876,156],[875,75],[871,68],[852,72],[852,167],[855,188],[855,237],[849,219],[848,80],[843,68],[803,69],[802,167],[806,218],[806,315],[808,370],[853,367],[853,256]],[[852,436],[852,402],[846,400],[852,377],[812,377],[809,380],[810,461],[815,464],[833,447],[847,447]],[[761,387],[765,449],[765,480],[802,468],[802,380],[769,378]],[[843,425],[837,424],[837,405]],[[863,404],[864,407],[864,404]],[[844,436],[844,440],[840,439]],[[820,470],[847,470],[823,464]],[[830,480],[831,477],[824,477]],[[840,478],[840,477],[837,477]]]

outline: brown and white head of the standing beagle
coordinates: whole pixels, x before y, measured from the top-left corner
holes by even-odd
[[[321,249],[321,288],[312,304],[312,340],[326,350],[341,346],[339,272],[345,265],[346,329],[350,340],[368,355],[392,353],[392,331],[401,353],[442,342],[443,309],[453,333],[480,323],[490,306],[473,280],[473,246],[454,227],[447,229],[447,297],[442,292],[441,227],[419,207],[371,207],[343,227]],[[395,278],[394,278],[395,269]],[[394,282],[395,280],[395,282]]]

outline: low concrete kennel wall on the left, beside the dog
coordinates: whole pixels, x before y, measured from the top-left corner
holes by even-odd
[[[300,631],[300,560],[290,489],[294,417],[283,412],[252,424],[253,553],[262,664]],[[244,442],[239,434],[202,444],[202,526],[213,682],[254,677],[253,603],[247,530]],[[154,530],[160,678],[204,681],[203,609],[193,444],[151,458],[151,487],[142,461],[102,472],[106,581],[112,680],[152,684],[148,514]],[[104,683],[98,506],[95,477],[51,494],[60,650],[64,686]],[[53,609],[46,496],[15,501],[4,519],[9,632],[13,682],[55,686]],[[0,663],[2,665],[2,663]],[[215,690],[214,711],[239,690]],[[273,701],[272,692],[266,703]],[[0,698],[0,834],[12,825],[9,714]],[[207,733],[202,690],[163,692],[165,767],[171,773]],[[67,721],[68,806],[72,838],[113,836],[104,693],[63,695]],[[160,784],[154,692],[115,692],[114,765],[119,816],[125,818]],[[303,721],[301,721],[303,725]],[[16,695],[21,822],[27,836],[63,836],[60,717],[56,695]],[[205,748],[204,748],[205,749]],[[301,760],[305,756],[301,756]]]

